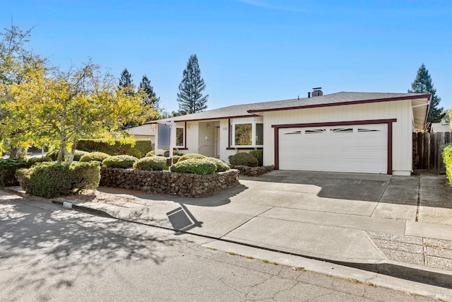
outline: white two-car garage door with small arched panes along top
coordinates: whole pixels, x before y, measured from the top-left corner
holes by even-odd
[[[279,168],[387,173],[388,125],[279,129]]]

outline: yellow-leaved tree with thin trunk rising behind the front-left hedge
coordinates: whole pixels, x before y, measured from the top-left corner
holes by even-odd
[[[59,163],[71,163],[79,139],[100,137],[155,114],[142,106],[143,93],[117,88],[116,79],[91,61],[64,72],[37,68],[26,81],[11,85],[10,93],[35,141],[59,149]]]

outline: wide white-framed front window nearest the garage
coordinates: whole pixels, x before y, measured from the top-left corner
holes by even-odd
[[[233,147],[263,146],[262,122],[236,122],[232,124]]]

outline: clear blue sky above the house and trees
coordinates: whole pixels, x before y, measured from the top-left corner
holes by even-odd
[[[422,62],[452,108],[452,1],[0,0],[0,25],[67,69],[88,57],[115,76],[148,76],[177,110],[190,54],[208,109],[339,91],[405,93]]]

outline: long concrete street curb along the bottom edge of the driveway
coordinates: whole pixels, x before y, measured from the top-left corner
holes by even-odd
[[[280,252],[280,253],[286,254],[286,255],[294,255],[297,257],[304,257],[304,258],[311,259],[311,260],[319,260],[319,261],[323,261],[323,262],[329,262],[329,263],[333,263],[335,265],[343,265],[345,267],[353,267],[356,269],[365,270],[367,272],[375,272],[378,274],[384,274],[386,276],[391,276],[391,277],[396,277],[396,278],[400,278],[400,279],[416,281],[416,282],[420,282],[423,284],[441,286],[441,287],[444,287],[447,289],[452,289],[452,272],[446,271],[444,269],[436,269],[434,267],[422,267],[420,265],[410,265],[410,264],[406,264],[404,262],[397,262],[397,261],[392,261],[392,260],[379,260],[378,262],[374,262],[374,263],[365,263],[365,262],[348,262],[348,261],[341,261],[341,260],[333,260],[333,259],[328,259],[328,258],[323,258],[323,257],[314,257],[311,255],[303,255],[303,254],[298,254],[295,252],[287,252],[284,250],[278,250],[278,249],[274,249],[274,248],[266,248],[266,247],[262,247],[262,246],[258,246],[258,245],[240,243],[240,242],[237,242],[234,240],[225,240],[222,238],[215,238],[213,236],[204,236],[204,235],[200,235],[198,233],[174,230],[174,228],[166,228],[166,227],[162,227],[162,226],[155,226],[155,225],[148,224],[148,223],[121,219],[119,217],[115,217],[115,216],[108,214],[106,211],[102,211],[100,209],[92,209],[90,207],[85,207],[85,206],[78,206],[76,204],[72,204],[71,202],[64,202],[61,200],[52,200],[52,203],[59,204],[62,207],[66,207],[69,209],[75,209],[77,211],[83,211],[85,213],[93,214],[93,215],[97,215],[97,216],[118,219],[121,221],[127,221],[127,222],[132,222],[132,223],[138,223],[138,224],[142,224],[145,226],[164,228],[164,229],[167,229],[170,231],[175,231],[178,233],[186,233],[189,235],[201,236],[204,238],[209,238],[209,239],[214,239],[214,240],[220,240],[220,241],[224,241],[227,243],[235,243],[235,244],[239,244],[239,245],[245,245],[245,246],[249,246],[251,248],[258,248],[261,250],[270,250],[272,252]]]

